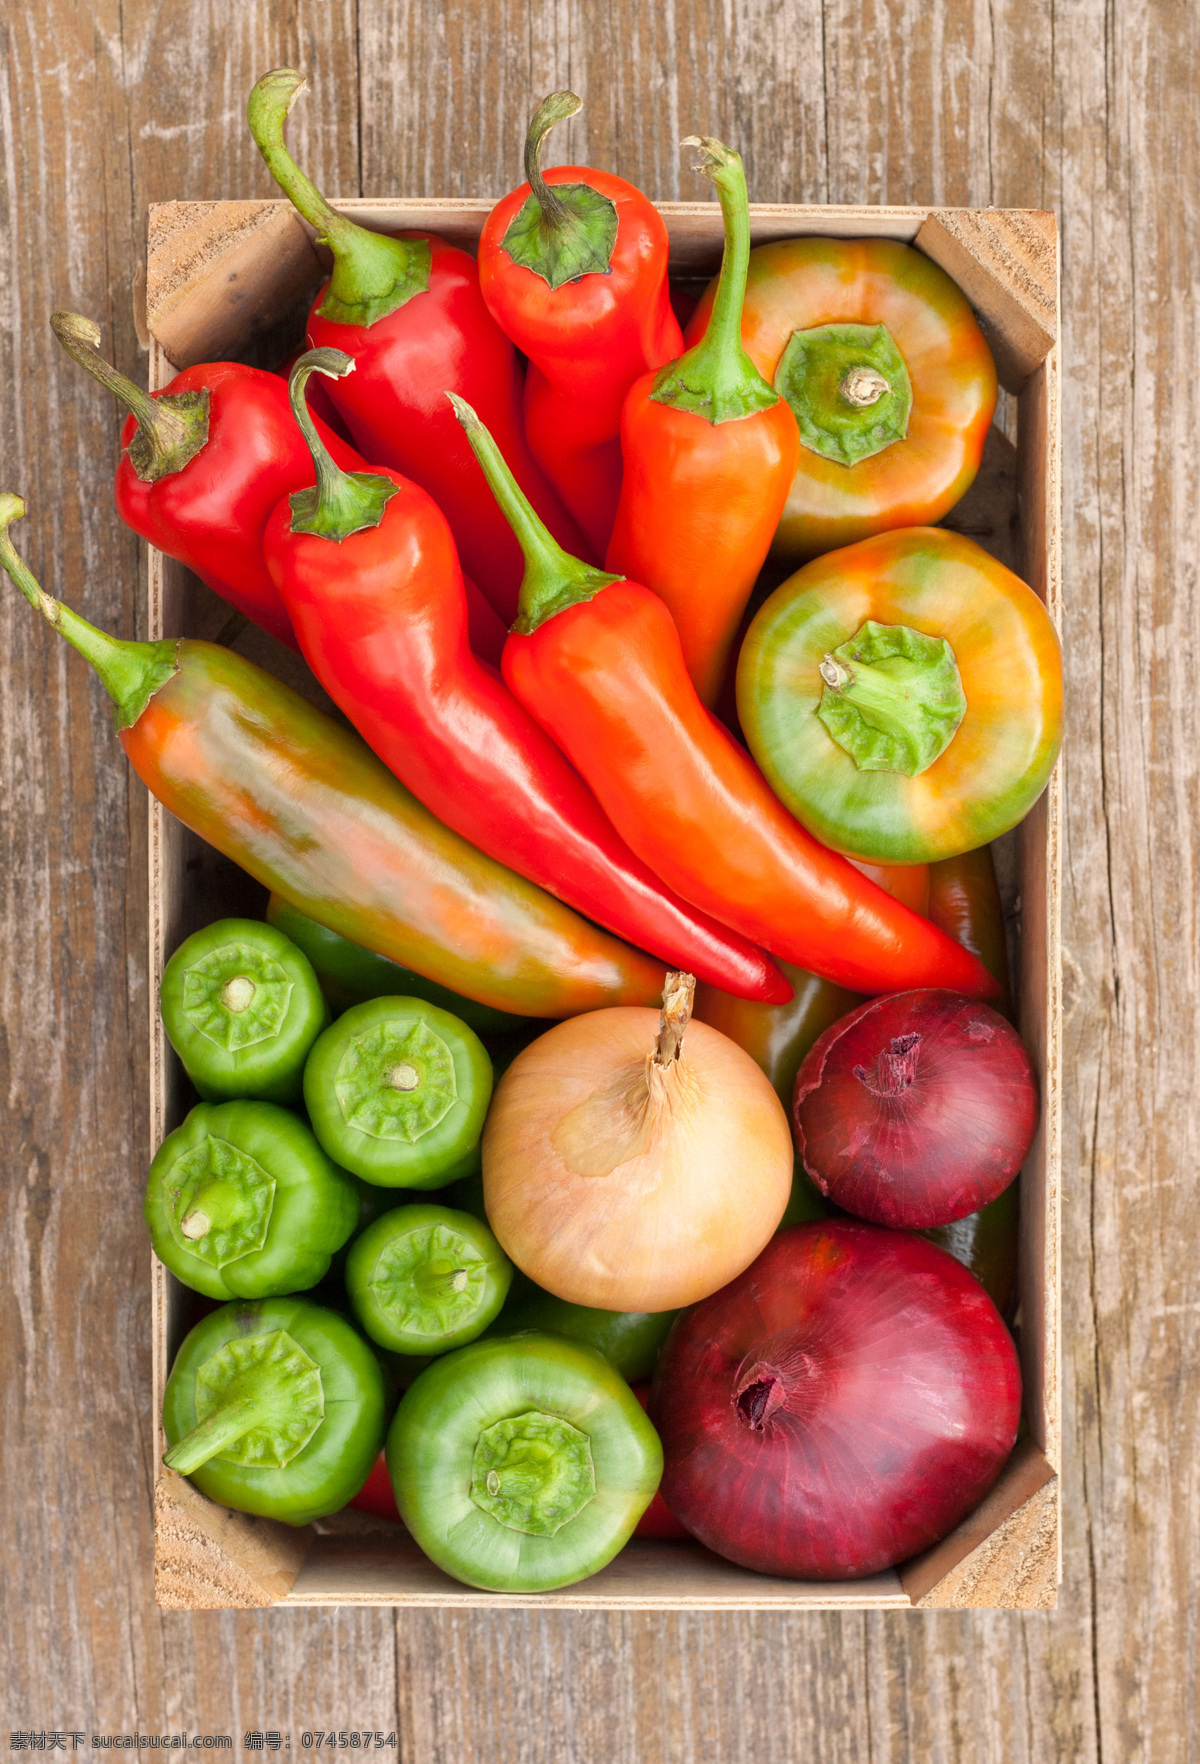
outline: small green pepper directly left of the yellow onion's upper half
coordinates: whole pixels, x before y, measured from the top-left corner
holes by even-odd
[[[492,1064],[464,1021],[424,998],[372,998],[318,1037],[304,1069],[312,1131],[386,1189],[438,1189],[478,1168]]]

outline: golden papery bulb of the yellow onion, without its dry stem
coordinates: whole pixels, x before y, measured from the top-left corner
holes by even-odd
[[[791,1194],[769,1080],[695,1021],[655,1076],[658,1021],[618,1007],[556,1025],[508,1067],[484,1127],[484,1205],[505,1254],[596,1311],[706,1298],[754,1261]],[[660,1087],[649,1127],[634,1106],[648,1073]]]

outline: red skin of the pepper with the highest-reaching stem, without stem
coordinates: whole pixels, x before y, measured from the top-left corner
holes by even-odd
[[[321,318],[321,289],[309,314],[309,348],[342,349],[356,363],[355,374],[330,385],[355,445],[365,459],[429,490],[450,522],[462,568],[512,624],[521,547],[487,490],[446,392],[489,413],[484,420],[517,483],[559,543],[584,556],[589,547],[529,453],[517,355],[484,303],[475,258],[431,233],[395,236],[429,242],[425,291],[362,326]]]

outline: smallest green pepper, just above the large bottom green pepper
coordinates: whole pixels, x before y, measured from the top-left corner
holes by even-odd
[[[358,1321],[394,1353],[436,1355],[475,1341],[510,1281],[512,1263],[485,1224],[429,1201],[383,1214],[346,1261]]]

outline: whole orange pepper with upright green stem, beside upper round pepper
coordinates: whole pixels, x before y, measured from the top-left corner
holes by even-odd
[[[796,418],[741,348],[750,256],[746,175],[711,136],[704,150],[725,220],[725,256],[702,340],[634,383],[621,411],[625,482],[605,568],[660,594],[688,674],[713,706],[755,577],[796,476]]]

